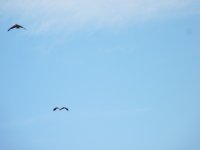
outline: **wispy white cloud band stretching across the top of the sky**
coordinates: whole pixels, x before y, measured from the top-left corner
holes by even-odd
[[[26,20],[41,32],[52,30],[53,26],[56,29],[123,26],[187,13],[198,3],[198,0],[8,0],[1,2],[0,9],[8,18]]]

